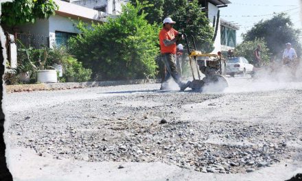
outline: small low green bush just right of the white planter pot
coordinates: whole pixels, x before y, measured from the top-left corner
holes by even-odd
[[[67,77],[74,77],[76,82],[87,82],[91,80],[91,69],[84,69],[82,62],[78,62],[75,58],[68,56],[62,59],[62,65],[65,71],[65,79],[62,80],[66,80]]]

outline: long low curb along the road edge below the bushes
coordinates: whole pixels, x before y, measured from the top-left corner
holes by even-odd
[[[155,84],[159,80],[117,80],[102,82],[60,82],[60,83],[42,83],[42,84],[19,84],[5,86],[6,93],[30,92],[37,90],[65,90],[72,88],[89,88],[97,86],[119,86],[128,84]]]

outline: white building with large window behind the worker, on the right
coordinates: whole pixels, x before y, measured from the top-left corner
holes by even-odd
[[[202,10],[207,13],[207,17],[211,24],[213,24],[214,18],[217,19],[218,10],[225,8],[231,1],[228,0],[200,0]],[[225,21],[220,18],[218,23],[218,32],[216,40],[214,42],[215,49],[213,52],[228,51],[229,49],[235,49],[236,47],[236,31],[239,29],[233,23]]]

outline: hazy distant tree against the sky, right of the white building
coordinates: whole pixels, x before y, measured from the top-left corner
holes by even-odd
[[[299,36],[301,31],[294,29],[290,16],[285,13],[276,14],[272,19],[259,21],[255,26],[243,35],[245,41],[255,40],[256,38],[264,38],[272,56],[280,56],[286,43],[292,43],[292,47],[296,49],[298,56],[301,56],[301,43]]]

